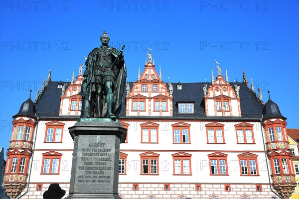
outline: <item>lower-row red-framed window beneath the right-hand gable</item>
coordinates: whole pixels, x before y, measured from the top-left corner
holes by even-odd
[[[226,175],[227,169],[227,155],[221,152],[216,152],[208,155],[210,162],[210,175]]]

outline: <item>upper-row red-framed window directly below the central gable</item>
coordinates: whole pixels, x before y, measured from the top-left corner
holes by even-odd
[[[158,143],[159,124],[146,122],[141,126],[141,142],[142,143]]]

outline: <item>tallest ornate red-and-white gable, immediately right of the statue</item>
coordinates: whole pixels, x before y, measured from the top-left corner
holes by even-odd
[[[126,97],[126,116],[172,116],[172,96],[162,81],[161,69],[155,71],[154,61],[148,53],[145,70]]]

